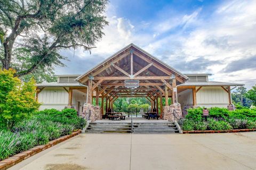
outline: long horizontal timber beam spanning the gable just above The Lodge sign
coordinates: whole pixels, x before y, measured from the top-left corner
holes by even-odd
[[[142,77],[94,77],[94,80],[170,80],[169,76],[142,76]]]

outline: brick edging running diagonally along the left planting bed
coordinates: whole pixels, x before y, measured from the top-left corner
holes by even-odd
[[[33,155],[35,155],[35,154],[37,154],[37,153],[39,153],[39,152],[41,152],[45,149],[51,148],[52,146],[57,145],[58,143],[63,142],[65,140],[69,139],[69,138],[72,138],[75,135],[80,134],[80,133],[81,133],[81,130],[78,130],[76,132],[72,132],[69,135],[65,135],[65,136],[60,137],[58,139],[54,139],[54,140],[50,141],[49,143],[47,143],[46,145],[39,145],[39,146],[36,146],[36,147],[31,148],[29,150],[20,152],[19,154],[16,154],[12,157],[4,159],[0,162],[0,170],[5,170],[7,168],[10,168],[13,165],[16,165],[16,164],[20,163],[22,160],[25,160],[25,159],[29,158],[30,156],[33,156]]]

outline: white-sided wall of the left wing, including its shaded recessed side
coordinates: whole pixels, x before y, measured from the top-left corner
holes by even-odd
[[[68,90],[69,88],[66,89]],[[79,90],[73,90],[72,106],[77,111],[78,101],[80,101],[79,111],[83,111],[82,107],[86,103],[86,94]],[[63,87],[46,87],[38,94],[38,102],[42,103],[39,111],[50,108],[61,111],[65,106],[68,106],[68,92]]]

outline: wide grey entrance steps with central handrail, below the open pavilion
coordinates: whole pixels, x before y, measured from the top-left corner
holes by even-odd
[[[173,122],[93,122],[90,123],[86,133],[179,133]]]

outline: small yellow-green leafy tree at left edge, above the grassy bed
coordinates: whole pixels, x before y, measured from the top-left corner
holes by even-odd
[[[0,127],[11,129],[39,107],[35,101],[35,80],[21,83],[15,71],[0,70]]]

